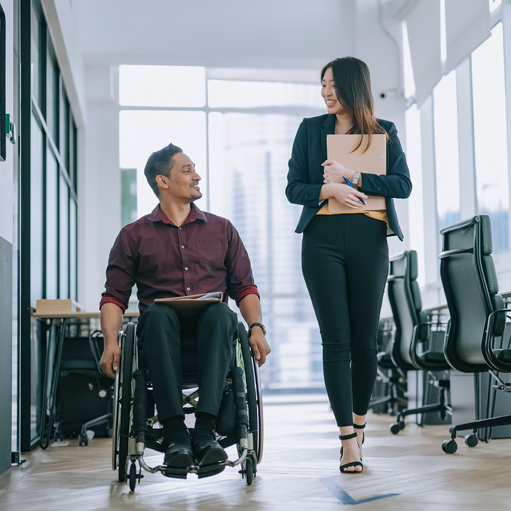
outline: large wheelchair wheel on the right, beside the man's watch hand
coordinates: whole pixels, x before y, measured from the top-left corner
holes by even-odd
[[[261,463],[263,457],[263,403],[259,380],[259,365],[248,342],[247,331],[241,322],[238,323],[238,336],[245,373],[249,432],[252,433],[257,463]]]

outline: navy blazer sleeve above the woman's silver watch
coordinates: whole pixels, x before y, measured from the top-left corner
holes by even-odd
[[[388,129],[389,141],[387,143],[387,174],[362,174],[362,187],[360,192],[367,195],[379,195],[406,199],[412,191],[410,172],[406,164],[406,156],[398,138],[398,130],[394,123],[390,123]]]

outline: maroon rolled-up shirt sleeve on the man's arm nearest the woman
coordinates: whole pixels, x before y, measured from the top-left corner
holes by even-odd
[[[257,286],[254,284],[252,268],[248,252],[241,241],[235,226],[226,222],[226,236],[228,241],[225,267],[227,268],[227,291],[229,296],[239,306],[240,300],[247,294],[259,296]]]

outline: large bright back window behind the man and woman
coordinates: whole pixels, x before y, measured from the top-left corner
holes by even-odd
[[[204,68],[151,67],[120,68],[120,166],[137,169],[138,216],[157,204],[143,173],[147,157],[170,142],[178,145],[202,178],[197,206],[229,218],[250,255],[272,349],[262,369],[265,384],[322,386],[319,328],[301,275],[301,237],[294,233],[301,208],[284,193],[298,125],[324,113],[319,82],[230,80],[225,73],[206,79]],[[151,88],[155,97],[147,99],[141,84],[153,72],[181,77],[195,90],[195,103],[188,93],[176,103],[165,87]],[[144,110],[148,101],[161,109]]]

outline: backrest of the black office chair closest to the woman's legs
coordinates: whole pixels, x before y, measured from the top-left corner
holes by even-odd
[[[410,351],[414,336],[426,340],[427,315],[422,311],[422,300],[417,283],[417,252],[407,250],[390,259],[388,277],[388,298],[396,333],[392,341],[391,358],[402,370],[418,369],[413,363]],[[421,328],[421,325],[424,328]]]

